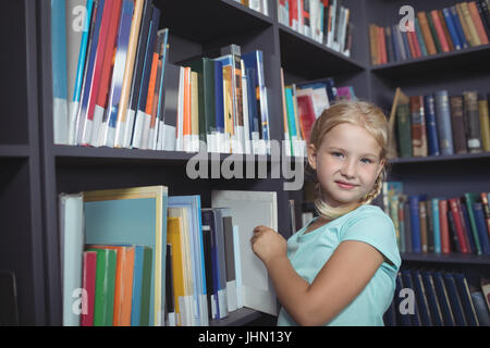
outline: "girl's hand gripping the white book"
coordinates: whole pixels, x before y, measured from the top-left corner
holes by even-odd
[[[281,234],[267,226],[255,227],[250,243],[252,250],[266,265],[277,257],[286,256],[286,240]]]

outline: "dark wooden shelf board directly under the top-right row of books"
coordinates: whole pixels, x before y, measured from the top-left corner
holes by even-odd
[[[477,46],[458,51],[443,52],[404,61],[371,66],[371,72],[390,78],[407,77],[413,74],[433,73],[452,70],[488,71],[490,45]]]

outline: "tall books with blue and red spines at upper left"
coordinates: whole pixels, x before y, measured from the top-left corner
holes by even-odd
[[[51,1],[54,144],[130,147],[163,114],[168,29],[151,0]]]

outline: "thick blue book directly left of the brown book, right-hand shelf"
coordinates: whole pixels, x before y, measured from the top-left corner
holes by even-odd
[[[448,90],[436,91],[434,99],[439,150],[441,151],[441,154],[454,154],[451,110]]]

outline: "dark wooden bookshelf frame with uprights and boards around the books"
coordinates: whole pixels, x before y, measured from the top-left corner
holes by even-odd
[[[489,91],[490,46],[370,64],[369,23],[393,24],[400,18],[397,9],[403,4],[412,4],[417,11],[454,1],[345,0],[355,25],[348,58],[279,24],[275,0],[268,2],[269,16],[233,0],[154,3],[162,10],[160,27],[170,29],[170,63],[230,44],[240,45],[243,52],[264,51],[272,139],[283,137],[281,66],[286,84],[333,76],[338,86],[354,86],[356,96],[379,104],[387,113],[395,87],[402,87],[407,95],[439,88],[450,94],[466,88]],[[0,83],[0,269],[15,272],[21,324],[61,324],[60,192],[167,185],[170,195],[199,194],[203,207],[210,207],[212,189],[275,190],[280,232],[285,237],[292,234],[289,199],[295,200],[299,227],[303,194],[283,191],[283,179],[192,181],[185,174],[185,164],[193,153],[53,145],[50,2],[9,0],[4,7],[1,33],[13,54],[3,54],[0,64],[2,76],[7,76]],[[15,117],[8,116],[12,114]],[[219,160],[225,158],[220,154]],[[273,164],[268,157],[257,157],[255,161]],[[489,153],[397,159],[391,162],[389,179],[406,183],[408,194],[455,196],[488,189],[485,173],[489,164]],[[487,257],[476,256],[402,257],[404,265],[451,266],[463,269],[471,277],[488,273],[490,264]],[[270,321],[261,313],[243,309],[211,325],[246,325],[264,318]]]

